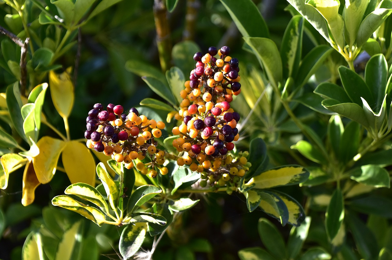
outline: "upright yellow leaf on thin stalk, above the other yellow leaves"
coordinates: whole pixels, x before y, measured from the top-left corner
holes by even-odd
[[[53,105],[63,118],[71,113],[74,104],[74,86],[67,71],[62,74],[49,72],[49,86]]]

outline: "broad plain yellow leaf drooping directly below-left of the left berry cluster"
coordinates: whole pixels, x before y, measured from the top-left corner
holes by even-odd
[[[94,186],[95,162],[86,145],[77,141],[67,142],[62,161],[71,184],[83,182]]]

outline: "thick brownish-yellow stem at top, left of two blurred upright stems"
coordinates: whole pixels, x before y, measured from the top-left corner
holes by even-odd
[[[159,61],[162,71],[165,72],[169,69],[171,63],[170,30],[165,3],[162,0],[154,0],[153,12]]]

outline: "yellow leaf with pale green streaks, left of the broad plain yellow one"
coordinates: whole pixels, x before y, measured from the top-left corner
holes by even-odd
[[[49,136],[44,136],[37,142],[40,153],[33,157],[34,171],[38,181],[46,184],[51,181],[56,172],[56,165],[65,142]]]

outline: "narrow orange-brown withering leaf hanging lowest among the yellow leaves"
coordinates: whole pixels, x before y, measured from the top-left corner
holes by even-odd
[[[33,163],[29,160],[23,173],[22,205],[27,206],[33,203],[34,191],[39,185],[40,182],[35,175]]]

